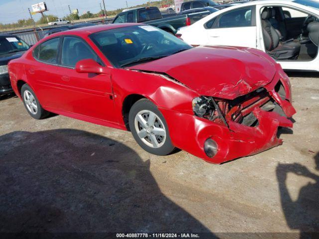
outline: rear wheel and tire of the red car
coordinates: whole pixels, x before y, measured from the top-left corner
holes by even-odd
[[[29,85],[24,84],[21,87],[21,97],[26,111],[34,119],[47,118],[50,113],[42,108],[38,98]]]

